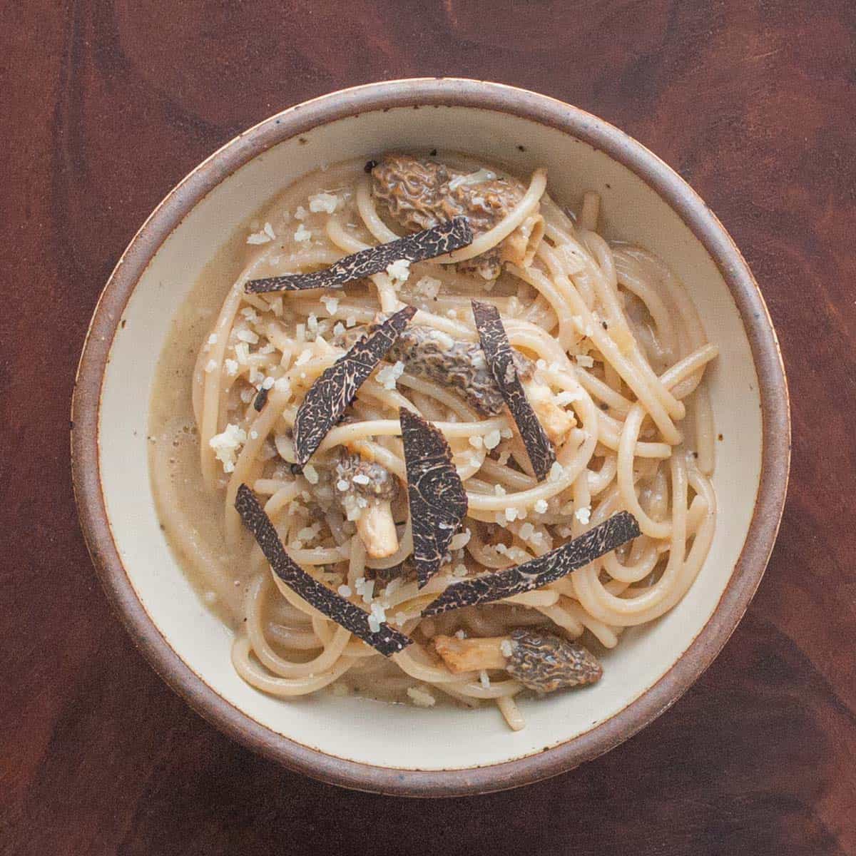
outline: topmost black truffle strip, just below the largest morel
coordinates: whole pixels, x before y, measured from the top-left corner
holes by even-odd
[[[324,270],[251,279],[244,290],[249,294],[263,294],[269,291],[300,291],[303,288],[342,288],[347,282],[386,270],[388,265],[399,259],[409,262],[435,259],[453,250],[460,250],[461,247],[469,247],[472,243],[473,229],[470,229],[467,217],[455,217],[454,220],[414,232],[413,235],[405,235],[388,244],[366,247],[359,253],[339,259],[335,265]]]

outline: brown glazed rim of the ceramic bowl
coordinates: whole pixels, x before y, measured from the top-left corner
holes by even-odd
[[[746,544],[716,610],[677,663],[586,734],[526,758],[466,770],[399,770],[336,758],[276,734],[215,693],[175,654],[136,596],[110,532],[98,465],[98,407],[116,326],[146,265],[188,211],[282,140],[372,110],[431,105],[492,110],[557,128],[605,152],[653,188],[704,244],[728,283],[752,348],[763,418],[761,479]],[[98,300],[80,356],[72,424],[74,495],[92,562],[114,609],[164,681],[217,728],[291,770],[347,788],[408,796],[481,794],[555,776],[607,752],[669,708],[722,649],[758,588],[782,517],[790,461],[788,384],[776,331],[746,261],[698,194],[645,146],[596,116],[512,86],[450,78],[374,83],[298,104],[240,134],[193,169],[135,235]]]

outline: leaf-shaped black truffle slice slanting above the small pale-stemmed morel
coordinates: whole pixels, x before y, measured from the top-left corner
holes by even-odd
[[[312,457],[330,428],[342,419],[357,391],[415,313],[415,306],[395,312],[369,336],[360,338],[312,383],[294,418],[294,455],[298,466],[302,467]]]

